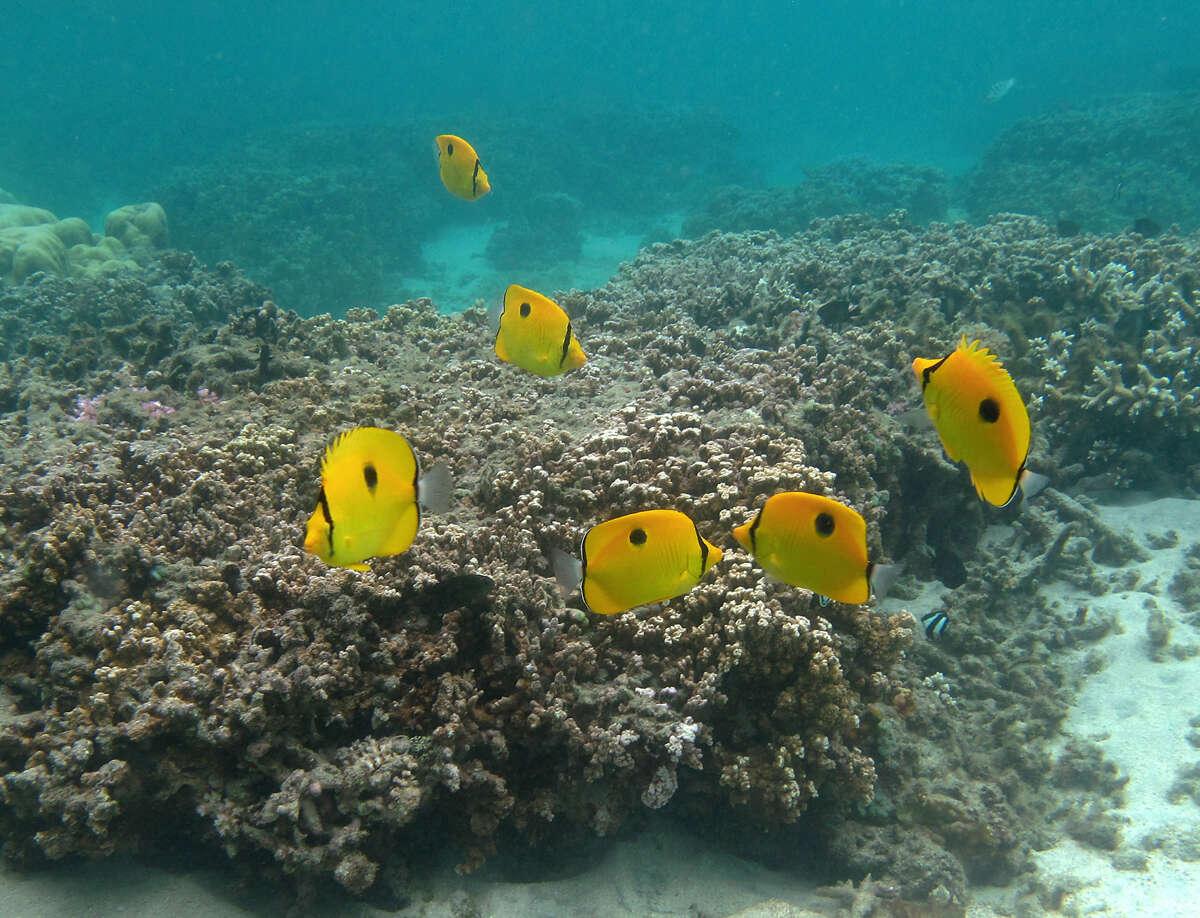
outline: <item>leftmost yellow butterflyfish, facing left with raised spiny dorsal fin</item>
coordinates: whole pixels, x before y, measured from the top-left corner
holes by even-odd
[[[370,570],[367,558],[407,551],[420,508],[443,512],[452,491],[450,469],[439,462],[422,478],[413,448],[395,431],[355,427],[325,449],[305,551],[335,568]]]

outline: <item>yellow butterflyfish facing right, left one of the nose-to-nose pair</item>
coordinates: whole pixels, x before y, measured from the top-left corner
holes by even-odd
[[[578,587],[593,612],[612,616],[680,596],[721,559],[686,514],[642,510],[588,529],[581,558],[554,550],[554,578],[564,596]]]

